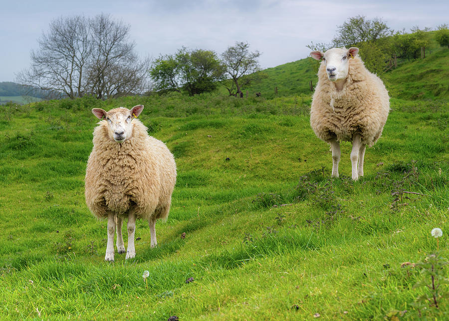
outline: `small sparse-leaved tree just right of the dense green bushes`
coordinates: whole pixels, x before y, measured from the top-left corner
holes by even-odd
[[[226,73],[230,76],[230,85],[225,85],[229,96],[243,96],[241,88],[251,82],[260,79],[258,58],[259,51],[249,52],[247,42],[235,42],[222,53],[222,59],[226,66]],[[234,93],[234,90],[236,92]]]

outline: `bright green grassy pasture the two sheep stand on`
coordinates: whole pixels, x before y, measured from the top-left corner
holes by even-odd
[[[108,264],[106,222],[84,204],[90,109],[138,103],[176,156],[178,180],[168,221],[156,225],[158,248],[138,221],[136,258]],[[349,143],[342,176],[330,179],[309,96],[86,97],[0,109],[0,319],[447,318],[447,298],[439,309],[413,305],[432,298],[414,287],[431,279],[413,264],[437,251],[435,227],[449,256],[449,104],[391,107],[357,182]]]

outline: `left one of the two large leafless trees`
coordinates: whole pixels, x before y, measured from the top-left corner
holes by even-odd
[[[39,49],[31,51],[30,69],[20,72],[17,81],[62,92],[72,99],[81,97],[91,52],[86,18],[78,15],[51,21],[48,33],[43,33],[38,43]]]

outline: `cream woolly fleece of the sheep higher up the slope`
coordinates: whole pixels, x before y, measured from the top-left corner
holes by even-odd
[[[325,142],[352,141],[353,135],[359,133],[362,143],[372,146],[387,121],[390,97],[382,80],[365,68],[359,56],[348,63],[349,73],[340,91],[328,79],[325,63],[321,63],[310,125]]]

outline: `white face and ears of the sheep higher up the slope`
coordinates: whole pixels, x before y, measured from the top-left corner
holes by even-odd
[[[359,52],[359,48],[332,48],[326,52],[312,51],[310,55],[316,60],[321,60],[326,66],[327,78],[330,81],[346,79],[349,71],[349,58],[354,58]]]

